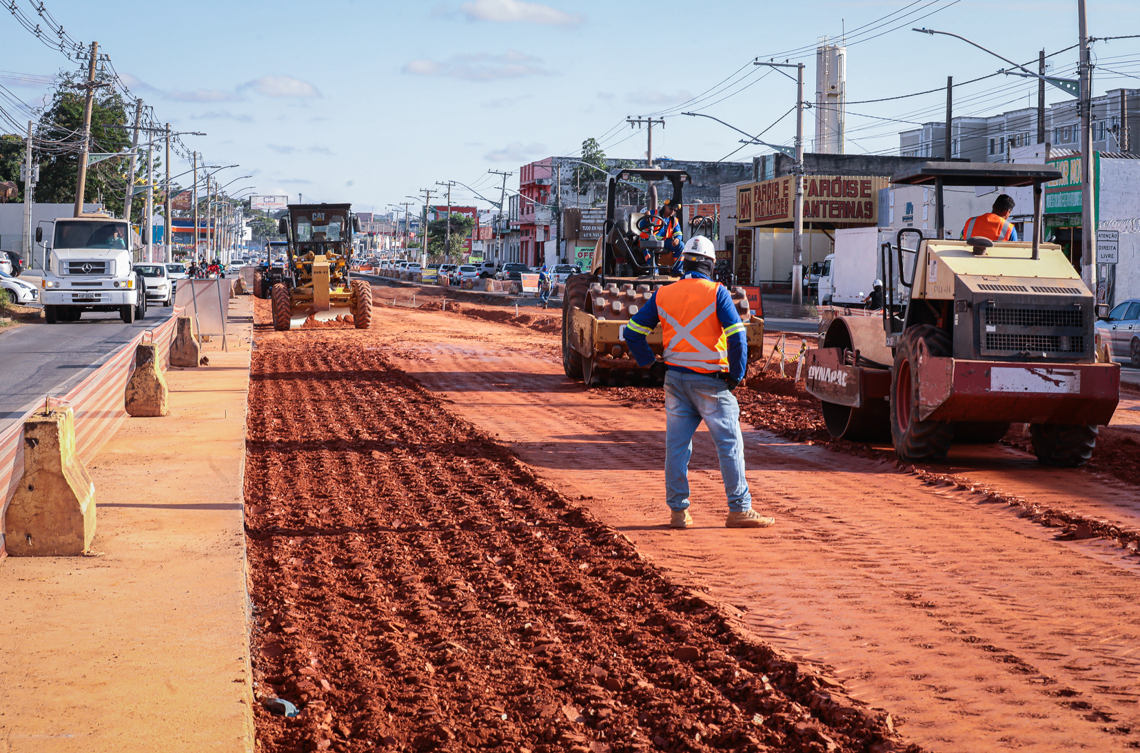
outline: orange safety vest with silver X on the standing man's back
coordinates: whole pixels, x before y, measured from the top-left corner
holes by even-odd
[[[718,287],[719,283],[690,277],[657,292],[666,363],[700,374],[728,370],[731,333],[716,316]]]

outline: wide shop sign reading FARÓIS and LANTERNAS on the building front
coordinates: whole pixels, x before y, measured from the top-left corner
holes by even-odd
[[[879,177],[805,175],[804,221],[836,228],[876,227],[879,223]],[[757,228],[788,224],[795,219],[793,178],[785,175],[736,189],[736,226]]]

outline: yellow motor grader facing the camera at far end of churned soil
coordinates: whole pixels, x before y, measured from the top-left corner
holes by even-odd
[[[372,286],[349,272],[352,232],[359,221],[351,204],[290,204],[278,232],[287,238],[285,260],[272,259],[260,270],[269,287],[274,329],[290,329],[306,319],[351,314],[357,329],[372,324]]]

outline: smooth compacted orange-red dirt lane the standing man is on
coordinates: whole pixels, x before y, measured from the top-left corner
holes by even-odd
[[[592,499],[674,578],[744,608],[746,624],[834,669],[931,750],[1131,750],[1138,560],[1101,539],[1059,541],[988,492],[1140,527],[1135,486],[1041,469],[1010,448],[955,450],[928,485],[893,463],[746,432],[758,509],[779,524],[722,527],[707,434],[692,464],[697,527],[665,529],[663,414],[565,379],[554,336],[439,312],[384,310],[367,333],[549,483]],[[970,481],[985,493],[970,491]]]

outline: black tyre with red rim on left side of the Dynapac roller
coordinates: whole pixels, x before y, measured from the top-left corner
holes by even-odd
[[[919,341],[926,341],[930,355],[948,357],[950,337],[931,325],[915,325],[903,333],[895,351],[890,377],[890,434],[899,460],[942,460],[954,439],[954,426],[946,421],[920,421],[918,417],[919,373],[913,368]]]

